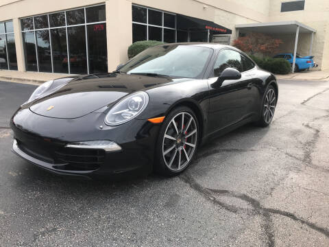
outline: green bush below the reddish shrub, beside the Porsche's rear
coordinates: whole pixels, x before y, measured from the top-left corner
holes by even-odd
[[[284,58],[258,58],[256,56],[250,56],[254,62],[261,69],[265,69],[271,73],[287,74],[291,71],[290,62]]]

